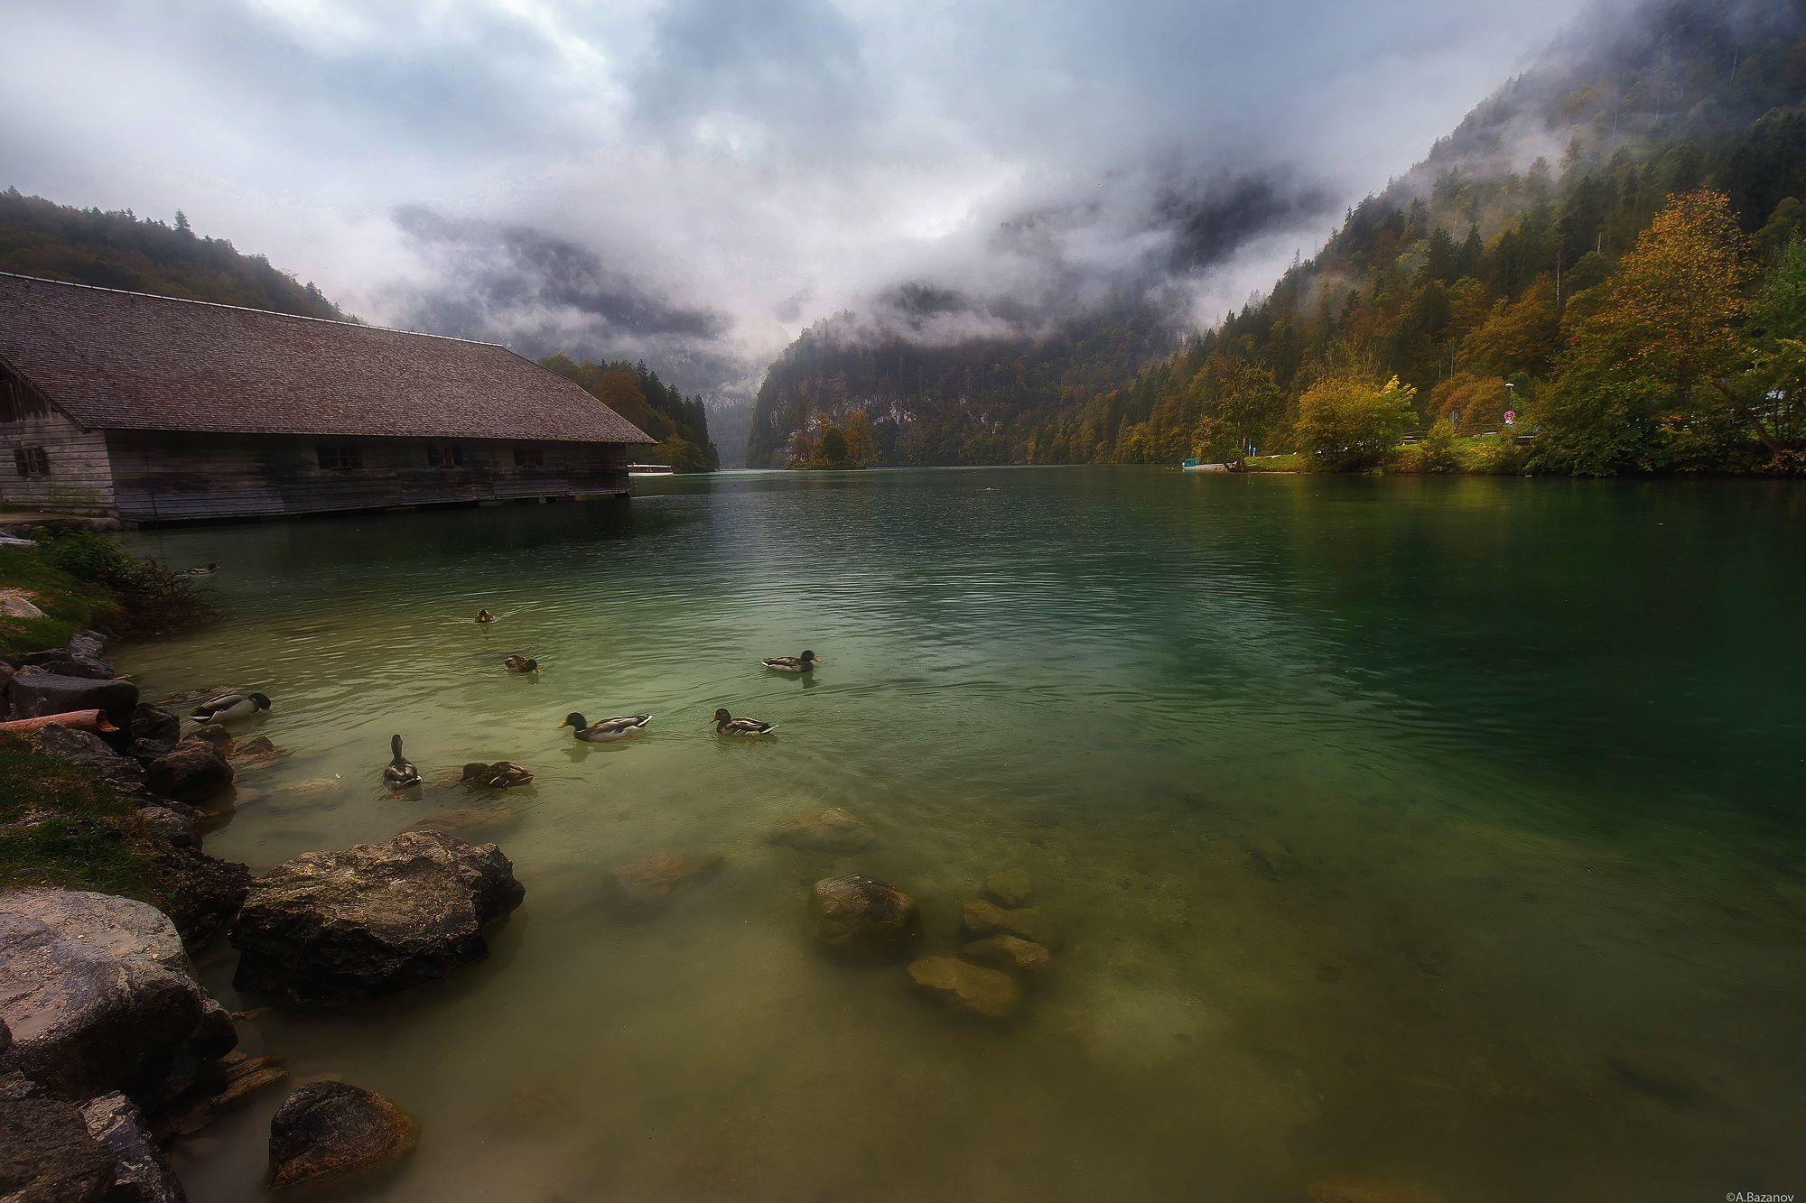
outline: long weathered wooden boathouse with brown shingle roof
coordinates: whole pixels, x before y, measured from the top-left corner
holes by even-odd
[[[0,509],[128,524],[625,497],[625,417],[495,343],[0,273]]]

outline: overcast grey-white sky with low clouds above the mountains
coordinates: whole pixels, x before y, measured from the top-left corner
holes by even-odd
[[[1580,7],[13,0],[0,184],[731,396],[905,284],[979,298],[950,334],[1158,266],[1208,322]]]

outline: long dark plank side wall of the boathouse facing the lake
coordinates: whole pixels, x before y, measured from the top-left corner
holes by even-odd
[[[321,446],[358,464],[323,468]],[[462,462],[433,466],[430,448]],[[542,462],[517,464],[517,448]],[[112,430],[107,450],[117,515],[135,524],[627,495],[621,444]]]

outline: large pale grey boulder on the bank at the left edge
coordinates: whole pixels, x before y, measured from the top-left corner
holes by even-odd
[[[161,1105],[237,1042],[170,919],[87,891],[0,898],[0,1021],[16,1068],[63,1098]]]

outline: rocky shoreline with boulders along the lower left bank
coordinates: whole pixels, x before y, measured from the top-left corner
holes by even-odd
[[[255,880],[206,854],[208,807],[280,750],[211,724],[184,733],[114,674],[105,647],[85,630],[0,661],[0,753],[20,769],[0,793],[7,1201],[179,1201],[163,1142],[284,1080],[275,1060],[233,1051],[235,1017],[195,979],[191,950],[224,934],[238,988],[332,1006],[482,959],[484,928],[524,898],[495,844],[430,831],[311,853]],[[108,874],[134,896],[88,889]],[[302,1084],[271,1125],[269,1185],[368,1172],[414,1138],[381,1095]]]

